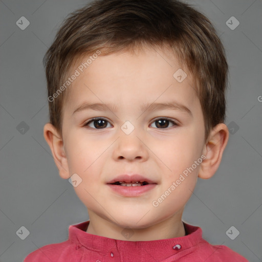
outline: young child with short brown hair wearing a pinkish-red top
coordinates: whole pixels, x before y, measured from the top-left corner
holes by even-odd
[[[60,177],[90,220],[25,262],[248,261],[182,221],[220,165],[228,65],[210,21],[174,0],[100,0],[74,12],[46,57]]]

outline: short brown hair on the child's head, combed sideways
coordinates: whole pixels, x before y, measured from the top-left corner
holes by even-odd
[[[225,50],[209,19],[176,0],[98,0],[71,13],[44,57],[48,96],[59,89],[80,57],[145,45],[168,45],[192,73],[207,139],[211,128],[225,121]],[[50,122],[60,135],[66,93],[49,101]]]

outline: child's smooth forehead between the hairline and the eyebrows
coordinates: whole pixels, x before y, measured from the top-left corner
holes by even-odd
[[[75,63],[71,72],[76,71],[79,75],[68,90],[66,103],[71,111],[86,100],[117,101],[120,107],[130,107],[132,102],[164,102],[177,97],[189,106],[197,98],[191,74],[168,49],[89,55]]]

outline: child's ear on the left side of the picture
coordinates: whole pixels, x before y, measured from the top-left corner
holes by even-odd
[[[60,177],[69,179],[68,160],[64,153],[63,140],[57,129],[51,123],[47,123],[43,127],[43,136],[50,146]]]

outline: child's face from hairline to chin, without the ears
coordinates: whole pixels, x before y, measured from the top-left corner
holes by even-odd
[[[180,68],[183,81],[174,75]],[[74,189],[91,222],[93,216],[114,227],[145,229],[181,220],[204,146],[193,77],[168,50],[149,48],[101,55],[78,71],[63,107],[62,139],[69,176],[81,179]],[[122,174],[154,184],[107,184]]]

